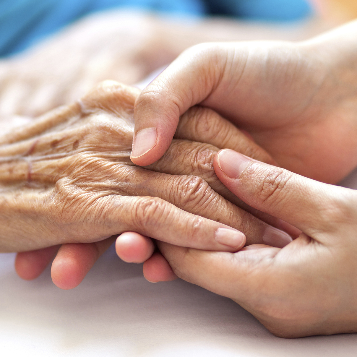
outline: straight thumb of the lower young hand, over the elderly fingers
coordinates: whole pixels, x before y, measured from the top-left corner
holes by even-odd
[[[214,169],[221,182],[242,201],[299,228],[308,236],[326,232],[346,210],[341,205],[355,192],[306,178],[256,161],[233,150],[221,150]],[[356,197],[354,198],[356,199]]]

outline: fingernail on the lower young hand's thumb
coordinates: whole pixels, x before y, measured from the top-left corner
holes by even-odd
[[[231,178],[237,178],[252,160],[233,150],[222,150],[218,153],[217,163],[220,169]]]

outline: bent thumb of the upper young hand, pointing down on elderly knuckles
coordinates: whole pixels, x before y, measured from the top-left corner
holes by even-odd
[[[224,52],[217,53],[212,44],[191,47],[141,92],[134,110],[134,164],[159,160],[170,146],[180,115],[212,93],[225,63]]]

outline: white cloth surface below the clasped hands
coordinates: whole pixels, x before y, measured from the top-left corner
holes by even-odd
[[[357,170],[344,181],[357,188]],[[357,356],[357,334],[286,340],[228,298],[182,280],[152,284],[111,247],[81,285],[34,281],[0,254],[0,356]]]

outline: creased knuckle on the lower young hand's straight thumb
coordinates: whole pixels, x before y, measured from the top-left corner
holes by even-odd
[[[292,174],[279,167],[264,167],[256,175],[257,197],[270,206],[278,205],[283,199],[284,188]]]

